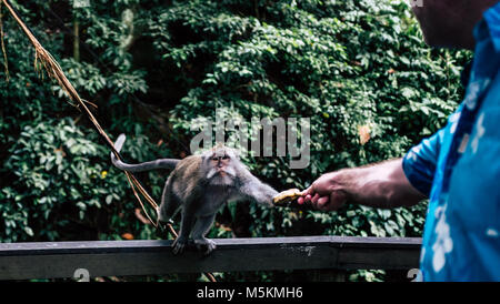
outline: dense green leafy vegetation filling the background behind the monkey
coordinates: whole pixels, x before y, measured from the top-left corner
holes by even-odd
[[[278,190],[402,156],[456,108],[470,59],[428,48],[407,1],[74,1],[11,0],[81,97],[98,104],[104,130],[113,139],[128,134],[126,160],[186,156],[197,133],[192,120],[213,118],[217,108],[247,121],[310,118],[307,169],[291,170],[287,158],[244,160]],[[86,115],[34,71],[31,44],[2,13],[0,241],[164,239],[144,221]],[[159,201],[168,173],[138,176]],[[334,213],[229,204],[209,236],[420,236],[424,212],[424,203]],[[300,275],[216,274],[220,281]],[[350,280],[390,274],[358,271]]]

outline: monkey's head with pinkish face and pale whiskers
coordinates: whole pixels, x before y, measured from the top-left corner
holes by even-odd
[[[240,163],[238,153],[227,146],[216,146],[202,154],[206,179],[212,185],[231,186]]]

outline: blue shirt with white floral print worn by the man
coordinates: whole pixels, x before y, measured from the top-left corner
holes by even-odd
[[[500,281],[500,3],[474,37],[463,102],[403,158],[408,180],[430,199],[423,281]]]

